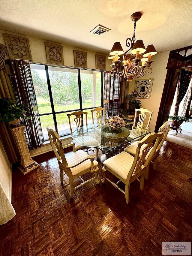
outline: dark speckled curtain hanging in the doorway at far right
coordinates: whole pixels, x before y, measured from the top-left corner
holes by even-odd
[[[175,113],[174,115],[178,115],[179,112],[179,104],[181,103],[185,93],[187,92],[189,83],[191,78],[191,72],[182,69],[181,75],[179,78],[179,85],[177,89],[177,100],[176,100],[176,107],[175,107]]]

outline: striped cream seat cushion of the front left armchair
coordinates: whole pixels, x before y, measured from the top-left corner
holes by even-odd
[[[78,150],[74,152],[72,155],[65,155],[65,158],[67,160],[68,165],[75,164],[79,161],[81,161],[83,158],[87,157],[87,153],[85,153],[82,150]],[[97,168],[98,162],[96,160],[93,160],[94,169]],[[91,168],[91,161],[90,159],[87,159],[86,161],[82,162],[81,164],[77,165],[76,167],[71,168],[71,172],[73,176],[83,172],[84,170],[88,170]]]

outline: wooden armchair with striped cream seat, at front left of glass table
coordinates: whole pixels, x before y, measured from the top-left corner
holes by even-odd
[[[95,179],[96,184],[99,184],[98,162],[94,160],[94,155],[87,155],[83,150],[73,152],[71,155],[65,155],[63,149],[74,146],[75,143],[72,142],[63,146],[62,139],[58,136],[56,131],[47,127],[47,132],[51,147],[58,161],[61,183],[63,183],[64,173],[66,173],[69,178],[70,197],[73,197],[74,189],[81,187],[93,179]],[[81,175],[88,172],[95,173],[95,177],[84,181]],[[78,177],[82,180],[82,183],[74,188],[73,181]]]

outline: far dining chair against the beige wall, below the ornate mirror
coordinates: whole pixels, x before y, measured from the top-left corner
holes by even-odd
[[[130,131],[130,138],[135,138],[149,131],[149,123],[151,121],[153,111],[149,111],[146,108],[139,108],[135,110],[135,117],[133,123],[128,123],[132,125]]]

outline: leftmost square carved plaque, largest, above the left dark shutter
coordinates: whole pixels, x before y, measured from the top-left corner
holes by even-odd
[[[6,33],[3,36],[10,59],[32,60],[28,38]]]

